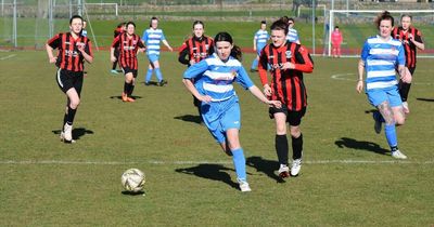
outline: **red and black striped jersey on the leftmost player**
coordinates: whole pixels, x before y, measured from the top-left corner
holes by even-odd
[[[91,42],[87,37],[79,36],[74,39],[71,32],[58,34],[50,40],[49,44],[53,49],[59,49],[58,62],[55,65],[59,68],[69,71],[82,71],[84,59],[81,52],[78,51],[78,46],[84,46],[85,52],[90,56],[93,56]]]

